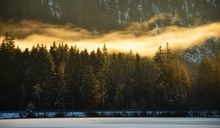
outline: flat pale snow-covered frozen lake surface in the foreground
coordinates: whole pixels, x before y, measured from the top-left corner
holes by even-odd
[[[0,128],[220,128],[220,118],[2,119]]]

